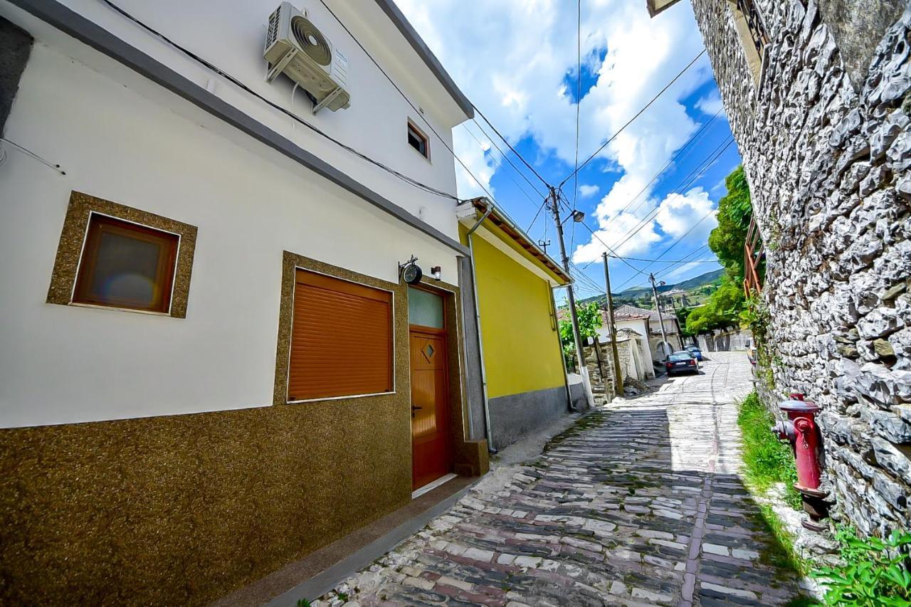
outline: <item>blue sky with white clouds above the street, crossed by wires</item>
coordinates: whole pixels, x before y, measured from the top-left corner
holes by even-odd
[[[642,0],[582,0],[581,102],[577,83],[576,4],[566,0],[398,0],[455,82],[548,182],[568,177],[697,57],[702,41],[688,2],[650,19]],[[491,141],[496,144],[492,145]],[[603,293],[605,246],[623,256],[711,260],[704,248],[723,179],[740,164],[708,59],[702,55],[667,92],[578,173],[575,206],[585,226],[565,224],[579,296]],[[456,127],[459,195],[490,190],[534,239],[551,242],[553,221],[540,207],[543,184],[480,117]],[[499,149],[496,149],[496,147]],[[506,158],[501,153],[507,152]],[[519,170],[510,165],[510,161]],[[657,179],[654,179],[657,175]],[[531,183],[529,184],[528,181]],[[478,184],[480,182],[480,185]],[[563,192],[572,205],[574,180]],[[638,195],[638,196],[637,196]],[[599,240],[600,239],[600,240]],[[670,251],[668,250],[669,247]],[[611,260],[614,291],[645,273],[669,283],[720,267],[717,262]],[[660,273],[659,273],[660,272]]]

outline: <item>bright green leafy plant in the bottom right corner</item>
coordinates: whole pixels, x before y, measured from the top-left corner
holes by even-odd
[[[886,540],[861,539],[855,530],[843,527],[836,538],[844,564],[811,573],[826,588],[826,605],[911,607],[911,533],[893,531]]]

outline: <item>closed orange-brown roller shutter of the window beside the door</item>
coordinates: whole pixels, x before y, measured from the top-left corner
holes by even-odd
[[[393,391],[392,296],[296,271],[289,402]]]

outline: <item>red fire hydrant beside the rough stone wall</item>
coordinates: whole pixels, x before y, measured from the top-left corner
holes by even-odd
[[[782,440],[791,442],[797,468],[797,482],[794,483],[794,489],[800,491],[804,496],[804,510],[813,520],[812,523],[804,521],[804,527],[811,530],[823,530],[824,526],[816,522],[824,519],[828,514],[828,504],[824,501],[828,494],[819,489],[822,478],[820,467],[822,440],[815,417],[816,413],[820,411],[820,407],[804,400],[804,395],[793,393],[791,400],[780,403],[778,408],[788,414],[788,419],[775,424],[772,431]]]

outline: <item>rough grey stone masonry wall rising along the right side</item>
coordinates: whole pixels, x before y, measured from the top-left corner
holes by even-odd
[[[835,518],[911,528],[911,5],[755,0],[754,77],[737,7],[692,0],[767,252],[770,406],[803,392]]]

